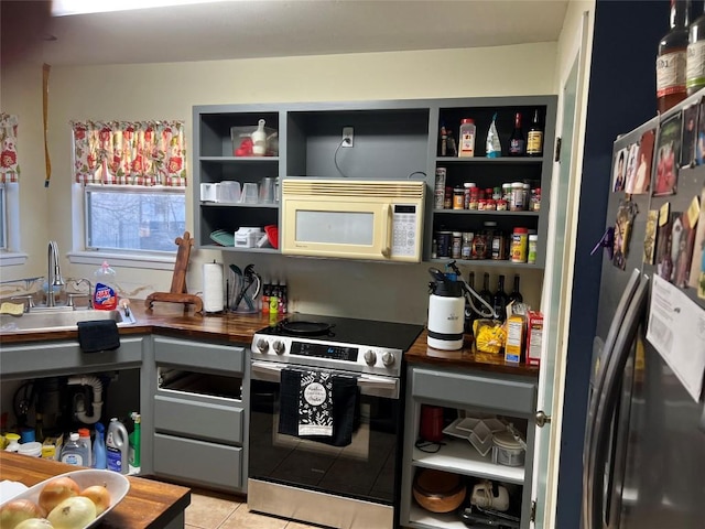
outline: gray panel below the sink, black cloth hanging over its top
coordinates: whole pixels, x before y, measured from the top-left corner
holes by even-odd
[[[2,346],[2,378],[141,367],[143,341],[142,336],[120,336],[120,347],[98,353],[84,353],[78,342],[68,339]]]

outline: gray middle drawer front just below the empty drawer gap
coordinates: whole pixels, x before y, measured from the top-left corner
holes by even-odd
[[[220,402],[217,402],[219,400]],[[154,397],[156,431],[181,433],[209,441],[242,444],[245,410],[228,399]]]

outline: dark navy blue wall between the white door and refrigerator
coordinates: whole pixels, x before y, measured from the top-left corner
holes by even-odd
[[[608,225],[612,142],[657,114],[655,54],[669,29],[669,0],[598,0],[595,10],[558,471],[560,529],[581,527],[583,440],[603,262],[601,253],[589,253]],[[693,2],[694,12],[702,10],[702,2]]]

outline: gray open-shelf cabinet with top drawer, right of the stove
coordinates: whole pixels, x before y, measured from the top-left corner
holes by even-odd
[[[503,485],[510,490],[513,514],[521,517],[521,527],[528,528],[531,511],[535,379],[415,365],[408,367],[406,375],[401,526],[423,529],[467,527],[457,511],[431,512],[414,499],[412,487],[416,473],[423,468],[434,468],[462,476],[467,487],[465,506],[469,506],[473,486],[479,481],[489,479]],[[423,406],[443,408],[448,431],[448,418],[462,415],[499,418],[505,423],[512,423],[525,439],[524,464],[497,464],[492,460],[491,451],[482,456],[468,439],[448,434],[444,435],[443,444],[437,451],[422,450],[423,446],[416,445],[416,440],[420,439]]]

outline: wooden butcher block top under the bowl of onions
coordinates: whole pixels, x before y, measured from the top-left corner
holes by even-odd
[[[0,452],[0,479],[31,487],[50,477],[76,471],[76,466],[28,455]],[[100,523],[100,529],[162,529],[183,516],[191,490],[152,479],[128,476],[130,490]]]

